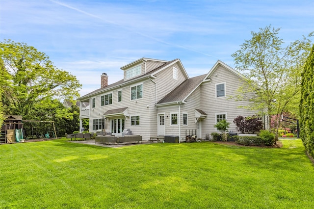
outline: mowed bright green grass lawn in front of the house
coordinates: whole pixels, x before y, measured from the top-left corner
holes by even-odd
[[[0,208],[314,208],[300,140],[280,149],[202,143],[0,145]]]

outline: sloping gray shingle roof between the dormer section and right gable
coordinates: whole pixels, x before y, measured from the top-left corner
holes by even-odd
[[[193,91],[193,89],[202,82],[206,75],[207,74],[186,79],[167,96],[162,98],[157,104],[183,101],[183,99],[187,97]]]

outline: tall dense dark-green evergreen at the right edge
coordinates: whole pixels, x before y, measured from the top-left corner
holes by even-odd
[[[300,100],[300,138],[314,157],[314,45],[302,73]]]

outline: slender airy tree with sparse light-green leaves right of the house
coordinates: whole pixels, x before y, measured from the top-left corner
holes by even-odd
[[[311,48],[311,40],[304,36],[284,47],[283,40],[278,37],[279,30],[266,26],[259,32],[251,32],[252,38],[245,40],[240,50],[232,54],[236,69],[248,78],[246,85],[240,88],[239,99],[255,94],[249,97],[252,105],[248,108],[265,111],[268,130],[271,115],[281,115],[298,96],[301,69]],[[278,128],[279,124],[276,139]]]

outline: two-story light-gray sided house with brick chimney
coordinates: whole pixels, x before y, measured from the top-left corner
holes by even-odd
[[[185,141],[188,130],[195,130],[199,138],[217,132],[214,125],[223,119],[231,123],[229,131],[236,132],[235,117],[257,114],[239,108],[248,101],[230,99],[244,77],[220,60],[207,74],[194,78],[188,77],[180,59],[141,58],[121,69],[123,79],[108,85],[104,73],[100,89],[78,98],[90,104],[89,111],[81,108],[80,113],[80,119],[89,118],[90,132],[105,129],[121,135],[131,129],[143,140],[175,135]]]

